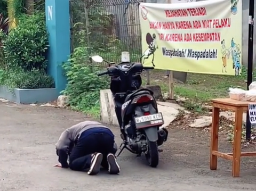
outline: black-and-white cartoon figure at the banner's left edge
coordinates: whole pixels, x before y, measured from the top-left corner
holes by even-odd
[[[143,53],[143,55],[141,57],[141,58],[143,58],[142,64],[145,63],[145,60],[148,59],[149,56],[153,55],[151,63],[153,65],[153,67],[155,67],[154,58],[155,58],[156,49],[158,48],[158,46],[156,44],[156,34],[153,34],[151,36],[150,33],[147,33],[146,41],[147,41],[147,44],[148,44],[148,49],[146,49],[146,51]]]

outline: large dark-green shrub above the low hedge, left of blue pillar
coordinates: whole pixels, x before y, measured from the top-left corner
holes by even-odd
[[[3,52],[9,68],[46,69],[49,43],[44,20],[43,14],[23,14],[18,26],[8,36],[2,32],[0,38],[3,39]]]

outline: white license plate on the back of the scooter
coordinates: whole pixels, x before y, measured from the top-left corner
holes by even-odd
[[[161,126],[162,124],[164,124],[162,113],[155,113],[151,115],[136,117],[134,118],[134,121],[137,128]]]

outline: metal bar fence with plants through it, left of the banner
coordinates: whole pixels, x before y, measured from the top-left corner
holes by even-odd
[[[129,51],[131,61],[141,56],[140,0],[70,1],[71,52],[87,47],[89,55],[118,62]]]

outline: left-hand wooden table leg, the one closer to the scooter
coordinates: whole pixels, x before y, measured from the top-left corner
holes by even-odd
[[[217,107],[212,108],[212,132],[211,132],[211,149],[210,149],[210,169],[217,169],[218,157],[212,154],[212,151],[218,151],[218,138],[219,138],[219,119],[220,109]]]

